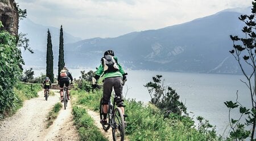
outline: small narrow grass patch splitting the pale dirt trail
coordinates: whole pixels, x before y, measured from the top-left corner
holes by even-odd
[[[57,102],[47,116],[46,128],[52,125],[53,121],[57,118],[60,109],[62,108],[61,102]]]

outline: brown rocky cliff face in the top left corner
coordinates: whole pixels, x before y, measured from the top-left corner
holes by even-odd
[[[0,20],[5,29],[11,35],[18,36],[19,15],[14,0],[0,0]]]

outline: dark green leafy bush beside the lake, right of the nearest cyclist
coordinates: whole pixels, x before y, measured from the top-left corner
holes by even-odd
[[[154,82],[149,82],[144,87],[148,89],[152,104],[156,105],[168,117],[170,113],[186,113],[187,108],[179,101],[179,95],[171,87],[164,86],[162,75],[153,77]]]

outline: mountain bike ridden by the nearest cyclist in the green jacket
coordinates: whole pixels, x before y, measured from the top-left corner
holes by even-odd
[[[112,100],[109,101],[109,111],[108,111],[108,124],[102,124],[102,127],[105,131],[108,131],[112,127],[113,140],[124,140],[125,139],[125,117],[123,116],[122,109],[117,107],[115,108],[115,102],[117,96],[114,94]],[[103,98],[100,101],[100,118],[103,119]]]

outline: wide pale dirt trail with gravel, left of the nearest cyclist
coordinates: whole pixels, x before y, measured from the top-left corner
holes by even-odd
[[[0,140],[79,140],[73,126],[71,102],[66,110],[60,110],[53,125],[46,129],[47,114],[59,101],[59,93],[49,96],[48,101],[44,100],[43,91],[38,95],[25,101],[14,116],[0,121]]]

